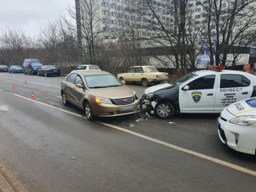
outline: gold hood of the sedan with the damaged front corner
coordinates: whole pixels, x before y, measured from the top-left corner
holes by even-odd
[[[120,97],[131,97],[136,93],[127,86],[114,86],[106,88],[93,88],[90,89],[93,95],[98,97],[105,97],[108,99],[120,98]]]

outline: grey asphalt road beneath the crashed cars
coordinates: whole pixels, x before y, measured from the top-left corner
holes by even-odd
[[[221,143],[218,115],[90,122],[61,79],[0,73],[0,164],[28,191],[255,191],[256,158]]]

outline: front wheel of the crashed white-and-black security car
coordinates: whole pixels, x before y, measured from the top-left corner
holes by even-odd
[[[158,102],[154,109],[154,114],[158,118],[163,118],[163,119],[171,118],[174,114],[173,104],[166,100]]]

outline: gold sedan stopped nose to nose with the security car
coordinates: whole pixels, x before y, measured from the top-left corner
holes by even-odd
[[[95,116],[120,116],[138,113],[136,92],[115,76],[102,70],[74,70],[61,81],[65,106],[84,109],[88,120]]]

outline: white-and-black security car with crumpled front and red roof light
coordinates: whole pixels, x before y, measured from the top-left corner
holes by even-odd
[[[172,84],[147,88],[140,104],[168,119],[175,113],[221,113],[237,100],[256,97],[256,76],[223,66],[191,72]]]

